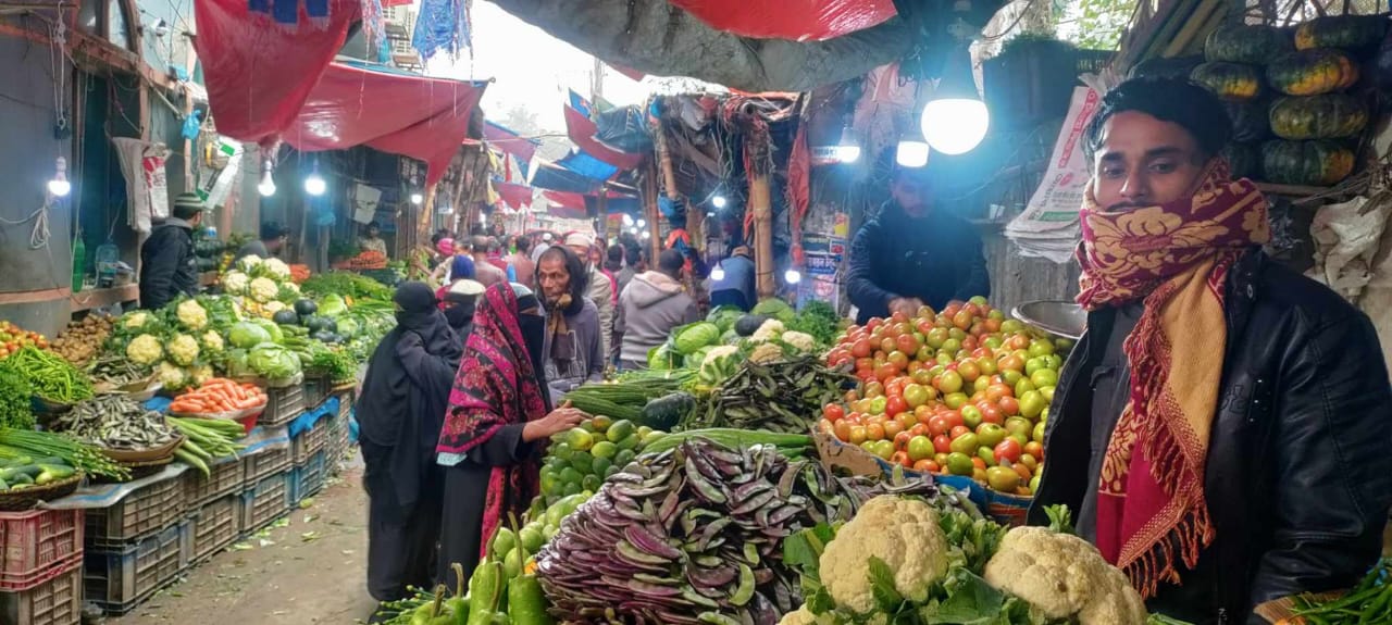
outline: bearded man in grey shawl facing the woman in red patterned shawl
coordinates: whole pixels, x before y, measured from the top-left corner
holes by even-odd
[[[546,302],[546,379],[554,402],[586,381],[604,379],[600,312],[585,296],[585,263],[571,248],[553,245],[536,267]]]

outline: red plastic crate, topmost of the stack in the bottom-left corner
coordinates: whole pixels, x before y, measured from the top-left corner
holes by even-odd
[[[0,590],[29,590],[82,560],[81,509],[0,512]]]

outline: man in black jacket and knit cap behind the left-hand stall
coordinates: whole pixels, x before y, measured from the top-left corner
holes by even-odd
[[[156,310],[181,294],[198,295],[193,228],[203,223],[203,200],[180,193],[173,214],[155,226],[141,246],[141,308]]]

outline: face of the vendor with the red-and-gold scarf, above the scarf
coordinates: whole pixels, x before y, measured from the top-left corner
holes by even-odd
[[[1123,111],[1102,125],[1093,161],[1093,195],[1107,210],[1183,199],[1194,192],[1207,157],[1179,124]]]

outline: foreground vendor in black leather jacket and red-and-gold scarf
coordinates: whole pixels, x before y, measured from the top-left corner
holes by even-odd
[[[1160,611],[1349,587],[1392,504],[1392,388],[1368,319],[1263,253],[1267,202],[1233,181],[1224,106],[1182,79],[1114,89],[1089,125],[1079,303],[1050,408],[1044,507],[1079,511]]]

